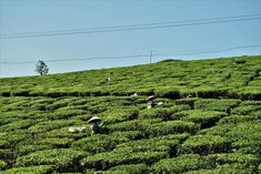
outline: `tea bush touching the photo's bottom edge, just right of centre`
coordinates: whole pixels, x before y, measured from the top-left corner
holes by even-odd
[[[153,173],[159,174],[173,174],[208,167],[208,163],[200,155],[189,154],[173,158],[161,160],[152,165],[152,171]]]

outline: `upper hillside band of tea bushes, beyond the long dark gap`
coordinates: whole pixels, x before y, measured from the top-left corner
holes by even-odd
[[[170,99],[192,95],[260,100],[260,55],[193,61],[165,60],[129,68],[8,78],[0,79],[0,95],[59,98],[155,93]],[[42,104],[38,106],[41,108]]]

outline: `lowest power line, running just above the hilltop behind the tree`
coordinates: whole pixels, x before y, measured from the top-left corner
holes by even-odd
[[[204,53],[217,53],[217,52],[227,52],[232,50],[239,49],[248,49],[248,48],[261,48],[261,45],[253,44],[253,45],[240,45],[233,48],[227,48],[222,50],[214,50],[214,51],[202,51],[202,52],[191,52],[191,53],[172,53],[172,54],[153,54],[153,57],[179,57],[179,55],[195,55],[195,54],[204,54]],[[81,59],[51,59],[46,60],[44,62],[69,62],[69,61],[88,61],[88,60],[120,60],[120,59],[131,59],[131,58],[151,58],[152,53],[150,54],[137,54],[137,55],[122,55],[122,57],[93,57],[93,58],[81,58]],[[0,64],[36,64],[36,61],[24,61],[24,62],[0,62]]]

